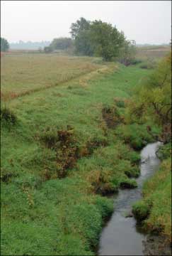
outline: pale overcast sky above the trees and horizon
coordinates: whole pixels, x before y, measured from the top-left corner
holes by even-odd
[[[70,36],[80,17],[112,23],[137,43],[171,39],[171,1],[1,1],[1,37],[52,41]]]

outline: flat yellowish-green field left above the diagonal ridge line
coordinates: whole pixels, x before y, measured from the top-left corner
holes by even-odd
[[[1,60],[1,96],[8,100],[102,68],[88,58],[11,52]]]

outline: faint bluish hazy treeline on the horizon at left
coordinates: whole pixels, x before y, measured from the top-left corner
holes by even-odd
[[[10,43],[11,49],[18,49],[18,50],[39,50],[45,48],[46,46],[50,45],[50,41],[41,41],[41,42],[23,42],[19,41],[18,43]]]

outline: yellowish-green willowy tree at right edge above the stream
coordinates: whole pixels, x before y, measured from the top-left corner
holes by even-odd
[[[162,127],[164,142],[171,139],[171,53],[137,87],[129,114],[131,122],[154,120]]]

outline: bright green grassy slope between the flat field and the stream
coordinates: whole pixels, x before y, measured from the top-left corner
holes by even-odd
[[[93,254],[103,218],[113,210],[110,199],[95,193],[96,185],[113,190],[122,181],[130,183],[125,170],[132,170],[137,156],[108,130],[107,146],[80,159],[66,178],[45,181],[45,169],[55,170],[55,151],[38,137],[46,127],[71,125],[80,144],[104,139],[103,105],[111,105],[114,97],[130,97],[148,73],[114,66],[113,73],[95,80],[71,80],[8,102],[18,123],[2,123],[1,130],[1,175],[10,177],[1,186],[2,255]]]

